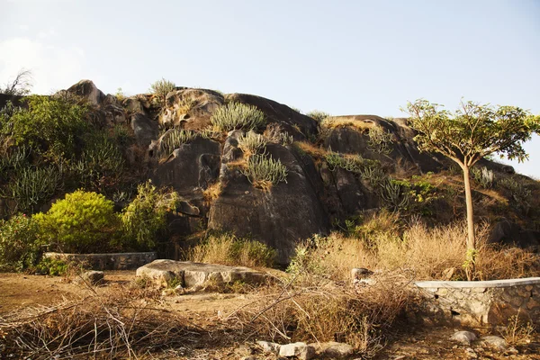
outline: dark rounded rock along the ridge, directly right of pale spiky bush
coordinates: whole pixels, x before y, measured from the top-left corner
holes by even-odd
[[[265,112],[269,123],[279,123],[285,131],[293,135],[294,139],[308,139],[316,136],[319,132],[317,121],[294,111],[282,103],[251,94],[227,94],[225,99],[227,102],[247,103],[257,106],[259,110]]]

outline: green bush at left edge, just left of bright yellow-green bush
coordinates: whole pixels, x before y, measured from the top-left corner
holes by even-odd
[[[0,269],[23,270],[40,255],[38,224],[24,214],[0,220]]]

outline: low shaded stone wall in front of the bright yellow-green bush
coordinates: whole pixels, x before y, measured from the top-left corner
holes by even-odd
[[[43,257],[75,260],[85,263],[94,270],[132,270],[157,259],[156,252],[111,253],[111,254],[62,254],[45,253]]]

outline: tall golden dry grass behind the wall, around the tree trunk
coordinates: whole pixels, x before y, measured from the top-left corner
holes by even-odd
[[[475,280],[536,276],[538,256],[518,248],[487,244],[489,226],[477,229]],[[334,232],[328,238],[315,237],[297,247],[292,267],[332,280],[347,280],[353,267],[392,271],[410,269],[418,280],[445,279],[453,268],[453,280],[464,280],[466,226],[455,222],[430,228],[412,221],[405,229],[394,215],[382,212],[349,229],[348,236]]]

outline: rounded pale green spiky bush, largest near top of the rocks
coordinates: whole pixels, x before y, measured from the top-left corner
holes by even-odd
[[[255,106],[245,103],[228,103],[213,112],[211,123],[222,131],[257,130],[266,125],[266,116]]]

